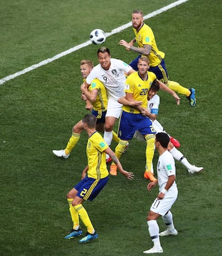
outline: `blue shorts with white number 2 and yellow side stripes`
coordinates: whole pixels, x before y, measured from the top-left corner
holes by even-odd
[[[86,177],[75,185],[74,188],[78,191],[76,196],[92,201],[101,192],[108,180],[109,175],[100,180]]]

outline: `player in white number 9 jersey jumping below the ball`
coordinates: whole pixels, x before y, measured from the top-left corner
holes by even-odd
[[[92,68],[91,73],[86,78],[85,86],[89,86],[92,80],[97,78],[107,89],[108,105],[105,115],[104,139],[110,146],[113,126],[121,113],[122,104],[118,102],[118,98],[125,95],[125,75],[130,75],[134,70],[122,60],[112,59],[107,47],[100,47],[97,51],[97,57],[99,64]]]

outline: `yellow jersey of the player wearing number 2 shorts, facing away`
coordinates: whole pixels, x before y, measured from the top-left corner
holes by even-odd
[[[86,146],[89,170],[87,176],[99,180],[109,175],[105,162],[105,149],[109,146],[97,131],[91,134]]]

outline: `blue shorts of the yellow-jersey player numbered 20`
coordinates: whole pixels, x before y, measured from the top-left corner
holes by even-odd
[[[118,137],[123,141],[128,141],[133,138],[135,131],[140,131],[142,135],[156,133],[150,118],[141,114],[131,114],[123,111],[118,127]]]

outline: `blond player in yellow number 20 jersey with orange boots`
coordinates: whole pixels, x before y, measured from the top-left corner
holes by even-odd
[[[142,102],[141,105],[131,107],[130,105],[123,105],[120,123],[118,127],[118,136],[120,141],[115,148],[115,154],[118,158],[121,157],[126,144],[129,139],[133,138],[135,131],[140,131],[146,139],[146,178],[149,180],[155,180],[152,174],[152,159],[154,157],[154,134],[156,133],[152,121],[141,114],[145,108],[147,108],[147,94],[153,81],[157,79],[157,76],[148,72],[149,59],[147,57],[141,57],[138,60],[138,72],[134,72],[126,79],[125,93],[126,100]],[[178,95],[168,88],[164,83],[159,81],[160,89],[167,91],[173,97],[175,97],[177,104],[179,104]],[[110,165],[110,174],[117,175],[117,165],[112,163]]]

